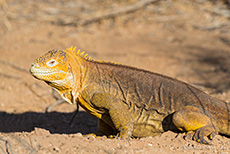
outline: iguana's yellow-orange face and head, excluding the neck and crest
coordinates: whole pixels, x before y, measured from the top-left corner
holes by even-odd
[[[67,59],[66,52],[51,50],[31,64],[30,72],[39,80],[53,83],[59,87],[68,86],[66,85],[67,80],[72,77],[72,73]]]

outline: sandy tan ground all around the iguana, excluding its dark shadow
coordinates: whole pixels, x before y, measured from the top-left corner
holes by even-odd
[[[46,51],[77,46],[93,59],[168,75],[229,102],[224,1],[0,0],[0,17],[0,153],[230,153],[230,138],[220,135],[213,145],[173,132],[128,141],[83,136],[96,132],[97,120],[80,109],[69,124],[76,106],[67,103],[46,113],[56,102],[52,89],[28,72]]]

